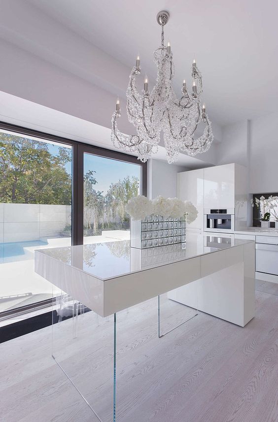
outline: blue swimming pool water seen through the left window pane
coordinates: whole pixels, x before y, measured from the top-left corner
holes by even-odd
[[[48,245],[48,243],[42,240],[0,243],[0,262],[32,260],[36,247],[46,245]]]

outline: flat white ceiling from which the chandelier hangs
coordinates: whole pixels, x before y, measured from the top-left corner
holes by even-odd
[[[152,52],[160,43],[159,10],[170,12],[178,93],[196,58],[204,100],[218,124],[277,110],[277,0],[28,0],[44,13],[129,67],[140,53],[155,77]],[[111,73],[113,69],[111,69]]]

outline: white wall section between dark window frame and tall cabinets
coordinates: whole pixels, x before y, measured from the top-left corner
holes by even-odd
[[[168,164],[160,160],[148,160],[147,190],[150,199],[158,195],[176,197],[177,173],[188,168],[181,165]]]

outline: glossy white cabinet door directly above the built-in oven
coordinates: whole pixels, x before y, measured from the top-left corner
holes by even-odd
[[[204,208],[235,208],[235,164],[204,169]]]

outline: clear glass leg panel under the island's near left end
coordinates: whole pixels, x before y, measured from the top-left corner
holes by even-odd
[[[54,297],[52,356],[92,409],[90,421],[112,422],[114,315],[103,318],[56,288]]]

